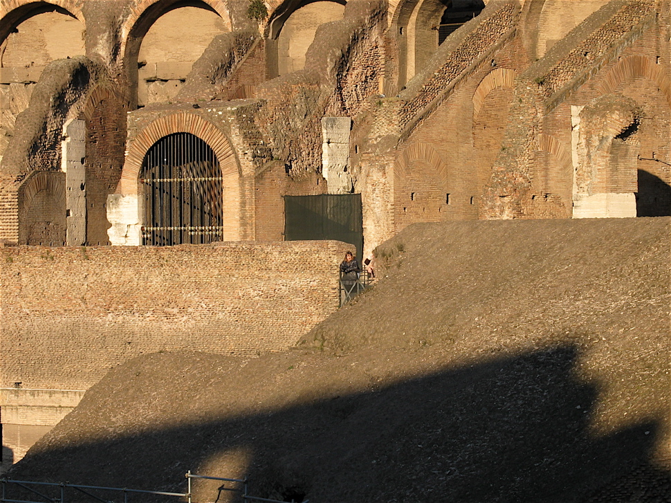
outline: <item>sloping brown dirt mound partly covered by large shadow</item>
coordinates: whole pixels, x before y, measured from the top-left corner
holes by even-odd
[[[295,349],[131,360],[10,475],[183,491],[186,470],[248,474],[287,501],[671,501],[670,223],[411,226],[378,248],[378,284]]]

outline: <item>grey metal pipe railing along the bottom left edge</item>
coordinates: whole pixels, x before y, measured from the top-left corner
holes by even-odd
[[[121,500],[105,499],[104,495],[109,495],[109,493],[117,494],[123,497],[123,503],[129,503],[130,495],[155,495],[155,496],[169,496],[169,497],[178,497],[185,499],[188,503],[192,503],[192,479],[209,479],[209,480],[221,480],[222,482],[232,482],[236,484],[235,486],[226,487],[226,484],[219,486],[218,491],[221,495],[222,491],[233,491],[236,493],[241,493],[242,500],[244,502],[268,502],[268,503],[284,503],[281,500],[271,500],[265,497],[251,496],[248,492],[249,486],[247,477],[243,479],[231,479],[226,477],[210,477],[209,475],[196,475],[191,473],[189,470],[185,477],[187,479],[187,492],[186,493],[169,493],[167,491],[147,491],[144,489],[129,489],[121,487],[106,487],[106,486],[84,486],[81,484],[68,484],[67,482],[35,482],[30,480],[14,480],[14,479],[0,479],[0,503],[66,503],[68,501],[82,501],[81,496],[84,495],[86,500],[93,500],[95,502],[102,503],[117,503]],[[8,496],[8,486],[15,486],[28,493],[37,495],[39,500],[19,500],[13,499]],[[54,491],[55,489],[55,491]],[[71,489],[77,493],[79,498],[71,497],[68,499],[66,496],[69,495],[67,489]],[[94,494],[93,491],[98,492]],[[217,500],[219,500],[219,495],[217,495]],[[34,497],[34,496],[33,496]],[[308,503],[309,500],[304,500],[302,503]],[[292,503],[296,503],[292,500]]]

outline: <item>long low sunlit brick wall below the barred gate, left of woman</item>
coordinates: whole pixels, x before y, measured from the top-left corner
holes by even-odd
[[[348,247],[2,248],[0,387],[85,390],[154,351],[284,349],[338,307]]]

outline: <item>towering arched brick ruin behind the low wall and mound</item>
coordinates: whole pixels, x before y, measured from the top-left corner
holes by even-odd
[[[670,17],[667,0],[0,0],[0,240],[283,241],[284,196],[320,194],[360,194],[364,255],[416,222],[669,215]]]

